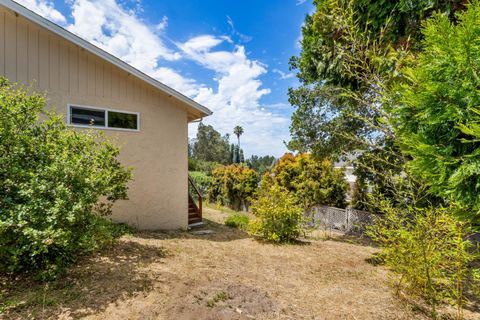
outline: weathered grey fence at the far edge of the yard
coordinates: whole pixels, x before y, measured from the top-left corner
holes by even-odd
[[[344,233],[363,233],[378,217],[367,211],[326,206],[310,208],[305,216],[309,227]]]

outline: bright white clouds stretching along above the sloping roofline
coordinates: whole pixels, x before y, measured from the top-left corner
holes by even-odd
[[[50,2],[37,1],[55,10]],[[205,123],[222,134],[241,125],[245,130],[242,148],[247,156],[280,156],[286,150],[283,141],[289,138],[290,119],[270,112],[274,109],[271,106],[261,105],[261,98],[270,93],[260,80],[268,66],[249,59],[244,46],[235,45],[228,36],[208,34],[173,44],[165,41],[166,16],[149,24],[139,17],[141,7],[127,10],[115,0],[74,0],[70,4],[73,22],[68,30],[210,108],[214,114]],[[32,9],[42,10],[38,6]],[[233,21],[231,26],[234,28]],[[165,62],[172,65],[180,60],[212,71],[216,85],[198,83],[182,75],[181,70],[165,66]],[[190,137],[196,134],[196,127],[190,125]]]

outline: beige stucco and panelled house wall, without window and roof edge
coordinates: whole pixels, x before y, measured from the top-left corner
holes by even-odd
[[[35,81],[48,106],[67,114],[67,104],[140,113],[140,131],[105,130],[122,147],[121,161],[134,168],[129,200],[113,218],[140,229],[186,228],[187,107],[84,49],[0,6],[0,74]],[[79,129],[81,130],[81,129]]]

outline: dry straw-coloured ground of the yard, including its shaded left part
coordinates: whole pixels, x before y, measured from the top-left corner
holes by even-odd
[[[0,319],[426,318],[392,296],[386,270],[368,263],[375,248],[263,243],[205,211],[210,234],[124,236],[48,285],[0,278]]]

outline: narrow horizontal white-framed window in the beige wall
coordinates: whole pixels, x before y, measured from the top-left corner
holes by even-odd
[[[68,107],[70,125],[116,130],[139,130],[139,114],[135,112],[101,109],[94,107]]]

